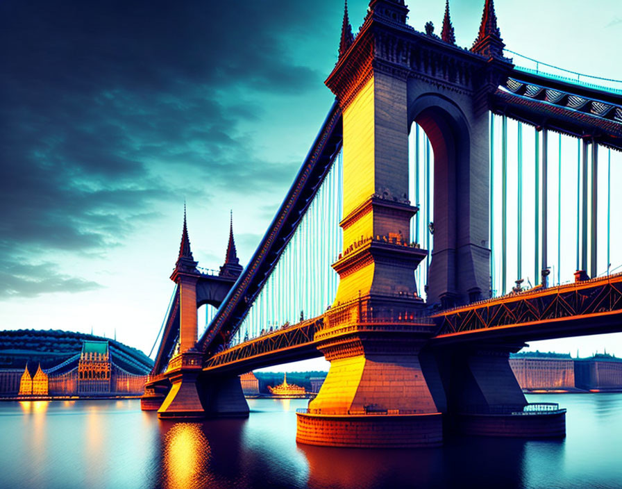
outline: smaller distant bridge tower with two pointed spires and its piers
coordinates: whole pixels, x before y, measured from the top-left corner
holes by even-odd
[[[198,308],[206,304],[220,306],[242,272],[233,238],[233,215],[225,262],[219,272],[206,273],[197,265],[190,249],[184,206],[179,255],[171,274],[171,280],[177,284],[176,297],[169,308],[153,379],[146,383],[141,406],[146,411],[157,410],[162,419],[200,419],[206,415],[245,417],[249,406],[237,375],[206,376],[202,371],[203,354],[196,348]],[[169,358],[171,351],[174,353]]]

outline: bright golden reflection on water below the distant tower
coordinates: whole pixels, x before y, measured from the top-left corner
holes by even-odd
[[[210,444],[201,425],[176,423],[165,436],[164,471],[169,489],[206,487]]]

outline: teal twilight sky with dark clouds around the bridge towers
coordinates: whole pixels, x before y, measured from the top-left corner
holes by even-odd
[[[443,0],[410,0],[442,24]],[[470,47],[483,0],[453,0]],[[355,31],[367,0],[351,0]],[[333,95],[341,0],[0,2],[0,328],[112,336],[149,353],[183,200],[194,257],[246,264]],[[507,47],[622,79],[619,0],[497,0]],[[614,266],[619,264],[613,264]],[[622,356],[622,333],[532,348]]]

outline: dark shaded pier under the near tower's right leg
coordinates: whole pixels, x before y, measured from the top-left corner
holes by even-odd
[[[471,436],[560,438],[566,410],[528,404],[510,368],[510,352],[523,345],[480,345],[447,352],[448,424]]]

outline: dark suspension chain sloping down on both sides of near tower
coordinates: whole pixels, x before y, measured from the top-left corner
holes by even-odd
[[[573,137],[586,138],[589,135],[598,144],[622,151],[621,93],[511,67],[505,82],[491,96],[490,103],[490,110],[494,113]],[[278,263],[314,192],[328,173],[330,162],[342,146],[342,129],[342,113],[335,103],[258,250],[242,278],[224,299],[226,306],[219,310],[210,329],[199,339],[201,351],[208,352],[211,343],[219,339],[221,330],[228,330],[228,337],[233,337],[265,278]],[[496,303],[491,301],[489,304]],[[467,306],[466,310],[471,308]],[[464,308],[454,312],[461,315]]]

